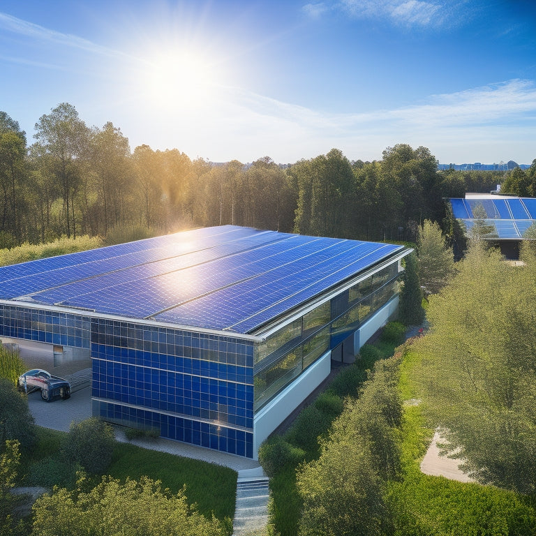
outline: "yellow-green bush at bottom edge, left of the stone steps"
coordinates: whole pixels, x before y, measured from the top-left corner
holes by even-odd
[[[81,480],[74,491],[56,488],[38,499],[32,534],[225,536],[225,528],[218,519],[207,519],[189,506],[184,490],[172,494],[147,477],[124,484],[103,477],[89,492]]]

